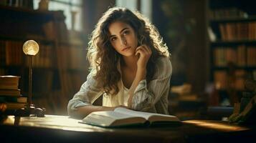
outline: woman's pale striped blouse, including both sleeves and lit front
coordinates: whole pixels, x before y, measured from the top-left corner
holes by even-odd
[[[146,83],[146,79],[139,82],[133,92],[132,109],[153,112],[159,114],[169,114],[168,96],[170,79],[172,73],[171,61],[168,57],[160,57],[156,61],[156,69],[151,82]],[[72,114],[77,107],[92,105],[96,99],[103,96],[103,107],[117,107],[128,105],[128,90],[122,80],[118,82],[119,92],[116,95],[108,96],[95,84],[97,81],[90,72],[87,81],[82,84],[80,91],[77,92],[67,105],[68,114]]]

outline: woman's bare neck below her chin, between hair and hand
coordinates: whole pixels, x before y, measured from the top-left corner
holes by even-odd
[[[138,56],[123,56],[123,66],[133,71],[137,70]]]

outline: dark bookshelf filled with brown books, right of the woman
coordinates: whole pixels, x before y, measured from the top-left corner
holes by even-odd
[[[209,79],[219,104],[238,102],[246,79],[256,79],[255,1],[207,0]],[[219,105],[218,104],[218,105]]]

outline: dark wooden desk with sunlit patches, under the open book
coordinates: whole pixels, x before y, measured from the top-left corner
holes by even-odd
[[[16,120],[17,121],[17,120]],[[254,129],[226,122],[189,120],[176,127],[107,129],[78,123],[66,116],[22,117],[14,125],[9,116],[0,125],[1,142],[245,142]],[[249,139],[249,140],[248,140]]]

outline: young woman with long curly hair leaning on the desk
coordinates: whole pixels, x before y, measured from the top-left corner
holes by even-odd
[[[90,74],[67,106],[71,117],[116,107],[169,114],[169,51],[141,14],[108,9],[92,33],[87,57]],[[100,96],[103,106],[93,106]]]

